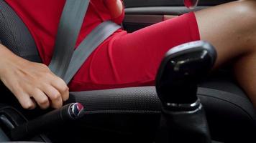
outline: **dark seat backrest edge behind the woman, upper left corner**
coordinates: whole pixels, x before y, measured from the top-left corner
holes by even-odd
[[[0,1],[0,40],[14,54],[40,62],[37,46],[27,26],[4,1]]]

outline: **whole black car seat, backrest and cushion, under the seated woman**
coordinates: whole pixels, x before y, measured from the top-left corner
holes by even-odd
[[[41,62],[29,30],[3,0],[0,0],[0,40],[14,54]],[[219,71],[198,88],[211,137],[221,142],[254,139],[255,110],[229,75],[227,71]],[[1,91],[5,88],[1,87]],[[0,101],[4,102],[3,98],[7,97],[1,95]],[[155,87],[70,92],[69,102],[81,102],[86,107],[85,116],[77,123],[82,130],[97,129],[152,140],[160,122],[161,104]]]

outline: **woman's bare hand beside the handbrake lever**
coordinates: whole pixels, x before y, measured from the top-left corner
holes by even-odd
[[[0,79],[17,97],[24,109],[62,107],[68,87],[45,64],[16,56],[0,44]]]

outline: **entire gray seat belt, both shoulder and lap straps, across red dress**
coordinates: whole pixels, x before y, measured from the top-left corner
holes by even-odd
[[[105,39],[121,26],[112,22],[104,21],[91,31],[86,39],[83,39],[76,50],[78,38],[84,16],[88,9],[88,0],[67,0],[60,18],[55,51],[49,68],[66,84],[70,82],[84,61]],[[76,10],[74,10],[76,9]]]

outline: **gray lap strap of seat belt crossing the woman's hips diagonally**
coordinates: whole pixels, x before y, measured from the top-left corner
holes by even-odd
[[[105,39],[111,36],[114,31],[120,28],[120,25],[112,21],[104,21],[95,29],[93,29],[93,31],[91,31],[91,33],[86,36],[86,39],[84,39],[78,48],[74,51],[68,66],[68,70],[66,71],[65,77],[63,78],[65,83],[68,84],[68,82],[70,82],[84,61],[86,61],[88,56],[90,56],[90,54],[94,51],[94,49],[96,49]]]

